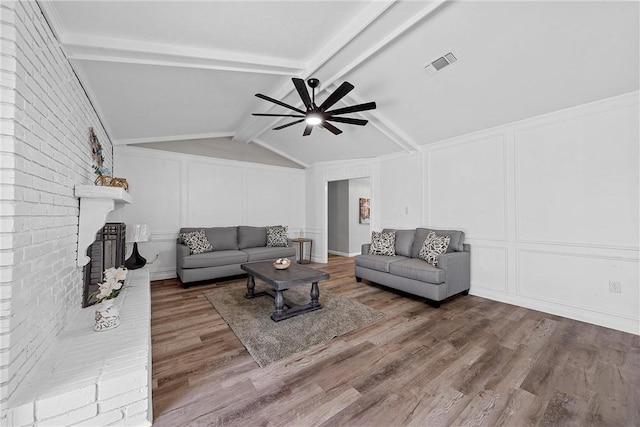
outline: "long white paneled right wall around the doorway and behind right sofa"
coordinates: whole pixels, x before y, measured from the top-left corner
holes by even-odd
[[[638,98],[531,118],[413,155],[316,165],[307,197],[322,200],[328,177],[370,174],[373,230],[465,231],[472,294],[640,334]],[[307,212],[307,221],[322,237],[322,219]],[[621,282],[622,292],[609,292],[609,281]]]

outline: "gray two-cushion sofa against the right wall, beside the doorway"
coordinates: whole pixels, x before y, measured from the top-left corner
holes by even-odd
[[[383,232],[389,231],[388,229]],[[420,249],[430,231],[450,237],[446,253],[438,266],[420,259]],[[453,295],[467,295],[470,287],[471,248],[464,244],[464,232],[417,228],[396,230],[396,256],[369,255],[370,243],[362,245],[362,255],[355,257],[356,280],[367,279],[390,288],[427,298],[439,307]]]

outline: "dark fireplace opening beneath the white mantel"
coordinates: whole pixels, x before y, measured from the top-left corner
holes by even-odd
[[[96,240],[87,248],[91,261],[84,266],[84,286],[82,307],[98,302],[95,291],[102,282],[104,270],[124,265],[126,252],[126,225],[120,222],[108,222],[96,233]]]

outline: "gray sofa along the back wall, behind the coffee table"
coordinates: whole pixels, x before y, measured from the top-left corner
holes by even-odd
[[[180,237],[176,247],[176,272],[185,288],[192,282],[246,274],[240,268],[245,262],[296,259],[296,248],[267,247],[266,227],[200,227],[181,228],[180,233],[204,230],[213,246],[212,252],[191,254]]]

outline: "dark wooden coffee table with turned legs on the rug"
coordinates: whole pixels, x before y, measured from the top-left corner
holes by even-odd
[[[241,268],[249,274],[247,279],[247,293],[245,298],[255,298],[263,295],[271,295],[275,302],[275,311],[271,313],[271,320],[280,320],[320,310],[322,305],[318,301],[320,290],[318,282],[329,278],[329,273],[292,263],[286,270],[276,270],[273,261],[250,262],[242,264]],[[254,292],[255,278],[261,279],[273,290]],[[309,304],[295,305],[284,298],[284,291],[292,286],[311,283],[311,300]]]

